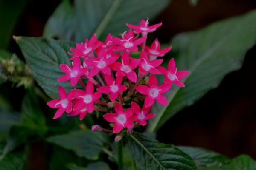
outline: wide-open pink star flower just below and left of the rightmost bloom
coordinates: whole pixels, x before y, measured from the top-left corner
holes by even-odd
[[[163,83],[158,86],[157,77],[155,77],[154,74],[150,75],[148,85],[149,87],[146,85],[139,85],[136,87],[136,90],[138,92],[146,95],[145,107],[151,107],[154,104],[155,100],[157,100],[157,102],[162,105],[168,105],[168,100],[163,95],[163,93],[169,91],[172,85]]]

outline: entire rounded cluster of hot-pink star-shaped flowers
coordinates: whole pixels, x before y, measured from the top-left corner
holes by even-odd
[[[110,122],[113,133],[122,130],[131,132],[138,125],[146,125],[147,120],[155,116],[150,113],[155,102],[167,105],[163,94],[171,89],[172,83],[184,87],[180,79],[186,77],[188,71],[177,71],[174,59],[169,61],[167,69],[160,66],[163,59],[158,58],[172,47],[161,49],[157,39],[150,47],[147,46],[147,34],[162,23],[148,24],[148,20],[142,20],[139,26],[127,24],[131,28],[128,32],[121,34],[121,37],[108,34],[105,42],[97,40],[94,34],[90,40],[70,48],[72,65],[61,64],[64,75],[57,80],[70,81],[70,85],[75,87],[67,94],[60,85],[60,99],[47,103],[51,108],[58,108],[53,119],[66,112],[68,116],[79,115],[82,120],[87,113],[97,111]],[[164,76],[160,85],[156,74]],[[94,125],[92,130],[107,129]]]

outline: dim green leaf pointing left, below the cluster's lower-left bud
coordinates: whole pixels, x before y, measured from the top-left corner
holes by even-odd
[[[79,130],[52,136],[47,141],[73,150],[78,156],[96,160],[104,149],[103,144],[108,142],[108,135],[106,133],[93,133],[90,130]]]

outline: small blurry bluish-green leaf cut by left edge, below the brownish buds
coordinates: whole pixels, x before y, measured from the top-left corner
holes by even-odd
[[[6,109],[0,109],[0,142],[7,139],[12,125],[18,125],[21,122],[19,113],[12,113]]]

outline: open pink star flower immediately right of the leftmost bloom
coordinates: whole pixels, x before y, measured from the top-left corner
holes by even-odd
[[[91,81],[87,82],[85,91],[79,89],[72,90],[70,93],[79,99],[79,101],[75,103],[73,110],[77,112],[85,109],[85,111],[92,113],[94,110],[94,102],[101,97],[100,92],[93,93],[93,91],[94,86]]]

